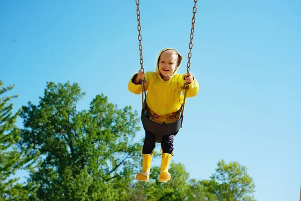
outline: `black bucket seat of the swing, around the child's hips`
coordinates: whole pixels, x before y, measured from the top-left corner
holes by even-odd
[[[155,135],[156,142],[161,143],[165,135],[172,135],[178,132],[182,127],[183,116],[178,121],[171,124],[160,124],[146,117],[146,101],[144,100],[145,108],[141,112],[141,121],[143,128]],[[180,109],[181,110],[181,109]]]

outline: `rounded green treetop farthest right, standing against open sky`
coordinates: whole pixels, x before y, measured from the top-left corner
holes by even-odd
[[[219,201],[256,201],[252,195],[253,179],[247,174],[247,168],[238,162],[219,161],[211,180],[204,180],[201,185]]]

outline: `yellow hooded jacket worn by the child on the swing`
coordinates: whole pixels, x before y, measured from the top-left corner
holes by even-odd
[[[166,48],[172,49],[172,48]],[[161,53],[166,50],[163,49]],[[176,51],[176,50],[175,50]],[[178,53],[179,54],[179,53]],[[180,55],[180,54],[179,54]],[[180,55],[180,64],[183,57]],[[179,65],[180,66],[180,65]],[[184,102],[184,95],[181,95],[181,91],[184,94],[185,89],[182,86],[185,84],[184,75],[177,74],[179,67],[175,70],[172,77],[168,81],[164,81],[159,73],[158,60],[156,64],[156,72],[145,72],[145,91],[146,103],[147,103],[147,115],[148,118],[158,123],[173,123],[179,119],[179,113],[181,106]],[[142,92],[141,84],[134,84],[133,80],[137,76],[134,74],[128,82],[128,90],[135,94]],[[186,97],[193,97],[199,92],[199,84],[197,80],[194,80],[189,84]]]

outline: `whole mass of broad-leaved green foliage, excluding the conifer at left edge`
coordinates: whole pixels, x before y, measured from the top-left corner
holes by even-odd
[[[219,161],[204,180],[190,179],[184,164],[174,162],[167,183],[158,181],[160,166],[154,165],[149,182],[135,180],[142,160],[141,141],[133,140],[137,113],[118,109],[103,94],[79,111],[84,95],[76,83],[49,82],[39,104],[23,107],[22,153],[39,155],[40,164],[24,188],[30,200],[255,200],[253,180],[238,162]]]

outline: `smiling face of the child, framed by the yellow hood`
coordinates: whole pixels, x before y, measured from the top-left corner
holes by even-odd
[[[163,79],[169,80],[178,67],[178,54],[174,50],[164,51],[159,59],[159,72],[163,75]]]

